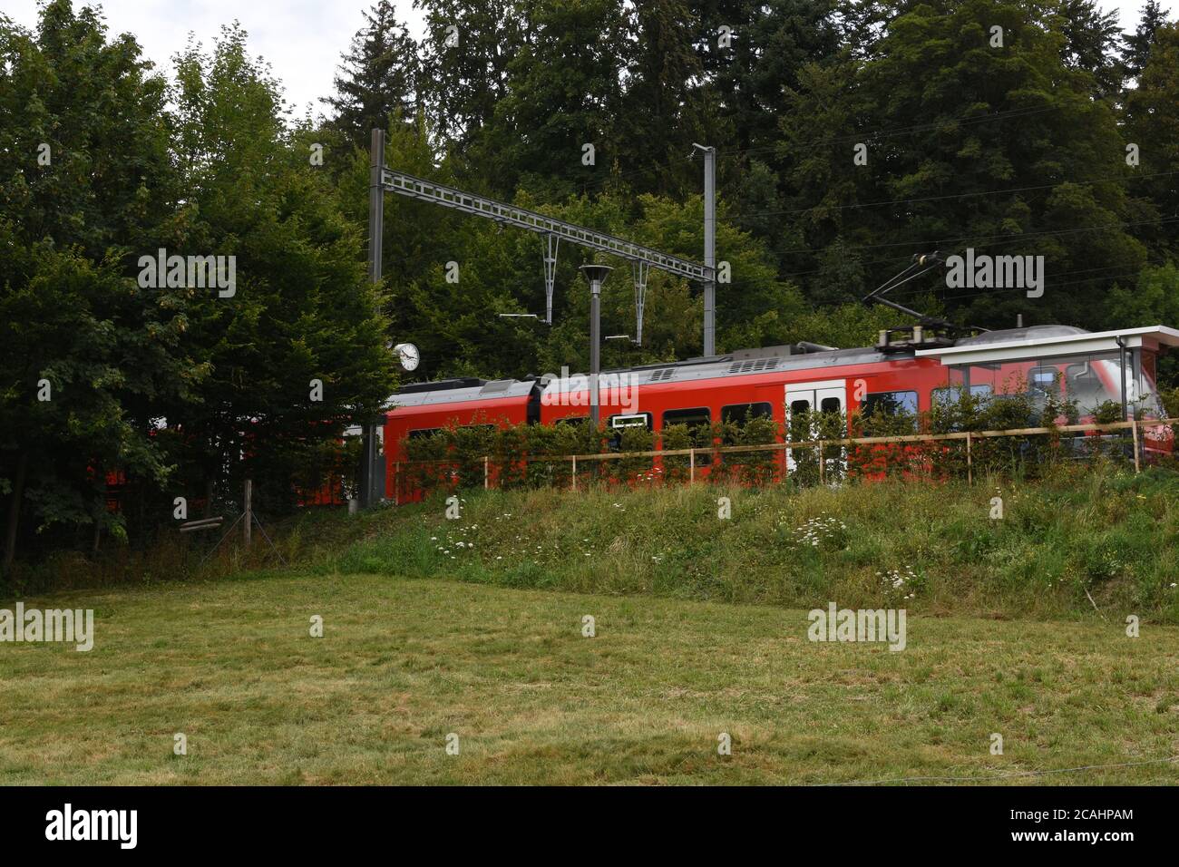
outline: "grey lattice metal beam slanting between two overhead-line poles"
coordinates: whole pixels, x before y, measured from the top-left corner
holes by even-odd
[[[566,223],[564,219],[558,219],[556,217],[546,217],[544,214],[529,211],[526,208],[516,208],[505,202],[496,202],[493,198],[463,192],[453,186],[417,178],[404,172],[393,171],[388,168],[381,171],[381,185],[389,192],[396,192],[401,196],[408,196],[423,202],[433,202],[434,204],[453,208],[465,214],[489,217],[499,223],[514,225],[519,229],[552,235],[558,239],[588,247],[591,250],[610,252],[631,262],[643,262],[651,268],[658,268],[663,271],[686,277],[687,280],[709,282],[712,278],[713,269],[706,268],[698,262],[659,252],[659,250],[635,244],[614,235],[606,235],[605,232],[586,229],[574,223]]]

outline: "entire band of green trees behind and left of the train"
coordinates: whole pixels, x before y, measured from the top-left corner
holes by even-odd
[[[505,317],[545,314],[542,236],[390,195],[369,283],[374,126],[393,168],[694,260],[693,144],[716,147],[720,352],[870,344],[904,318],[859,300],[935,249],[1043,257],[1039,298],[897,290],[960,323],[1177,324],[1179,28],[1154,0],[1125,38],[1094,0],[415,6],[420,35],[377,0],[302,119],[236,25],[165,77],[90,7],[0,18],[7,557],[140,538],[245,477],[289,505],[394,388],[390,341],[421,347],[420,379],[587,364],[582,248],[559,250],[551,326]],[[160,249],[235,257],[236,291],[144,285]],[[604,333],[633,335],[631,265],[594,261]],[[652,271],[641,346],[604,364],[697,355],[702,316]]]

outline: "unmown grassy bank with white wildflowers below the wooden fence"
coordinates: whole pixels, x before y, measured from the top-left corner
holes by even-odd
[[[717,517],[722,495],[730,520]],[[1002,520],[989,517],[996,495]],[[315,560],[321,574],[808,609],[834,599],[940,616],[1089,619],[1096,604],[1111,623],[1133,613],[1179,624],[1172,472],[941,488],[493,491],[466,495],[460,520],[443,511],[434,500],[343,524],[309,519],[288,552]],[[889,572],[904,586],[891,589]]]

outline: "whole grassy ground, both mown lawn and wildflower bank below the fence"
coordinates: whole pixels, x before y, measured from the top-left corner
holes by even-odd
[[[178,572],[165,551],[140,586],[41,599],[94,607],[97,648],[0,645],[0,783],[834,782],[1179,754],[1179,629],[1154,625],[1179,623],[1177,478],[304,514],[281,533],[290,572],[159,582]],[[908,649],[806,642],[804,610],[828,600],[908,609]]]

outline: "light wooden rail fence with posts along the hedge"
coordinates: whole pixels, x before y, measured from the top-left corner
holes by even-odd
[[[712,457],[724,457],[726,454],[751,454],[751,453],[785,453],[785,452],[805,452],[809,449],[817,449],[819,453],[819,459],[817,460],[817,473],[818,478],[822,480],[824,477],[824,471],[828,464],[832,461],[845,460],[845,457],[828,455],[826,449],[830,448],[851,448],[856,446],[889,446],[889,445],[916,445],[916,444],[937,444],[937,442],[963,442],[966,445],[966,471],[968,481],[973,482],[973,445],[979,440],[994,440],[1001,438],[1015,438],[1015,436],[1042,436],[1042,435],[1060,435],[1060,434],[1088,434],[1088,433],[1118,433],[1118,432],[1131,432],[1133,440],[1133,461],[1134,471],[1139,472],[1141,469],[1141,448],[1139,445],[1140,434],[1145,429],[1155,427],[1166,427],[1170,425],[1179,425],[1179,419],[1144,419],[1144,420],[1132,420],[1132,421],[1112,421],[1112,422],[1089,422],[1084,425],[1061,425],[1054,427],[1022,427],[1022,428],[1010,428],[1003,431],[954,431],[950,433],[916,433],[916,434],[896,434],[891,436],[845,436],[839,439],[821,439],[821,440],[798,440],[798,441],[786,441],[786,442],[768,442],[760,445],[742,445],[742,446],[702,446],[698,448],[660,448],[651,449],[644,452],[598,452],[598,453],[586,453],[586,454],[527,454],[518,457],[507,458],[494,458],[490,455],[481,455],[479,458],[446,458],[439,460],[424,460],[424,461],[400,461],[394,465],[394,477],[395,484],[401,482],[407,471],[411,471],[414,467],[452,467],[455,468],[457,465],[463,462],[470,462],[473,460],[479,461],[481,467],[481,484],[485,488],[495,487],[493,484],[493,477],[495,473],[493,468],[500,467],[505,464],[512,465],[529,465],[529,464],[544,464],[552,467],[556,464],[568,464],[571,486],[577,490],[578,484],[578,465],[602,462],[602,461],[625,461],[625,460],[644,460],[651,459],[664,459],[664,458],[687,458],[689,461],[681,467],[677,467],[679,471],[686,471],[685,481],[694,481],[697,473],[700,469],[709,469],[707,464],[700,464],[702,459],[709,461]],[[1086,438],[1071,438],[1084,442]],[[739,465],[745,466],[745,465]],[[455,468],[453,472],[457,473]],[[643,472],[651,472],[646,469]],[[786,474],[791,472],[788,469]],[[877,471],[869,471],[877,472]],[[400,500],[400,497],[395,499]]]

